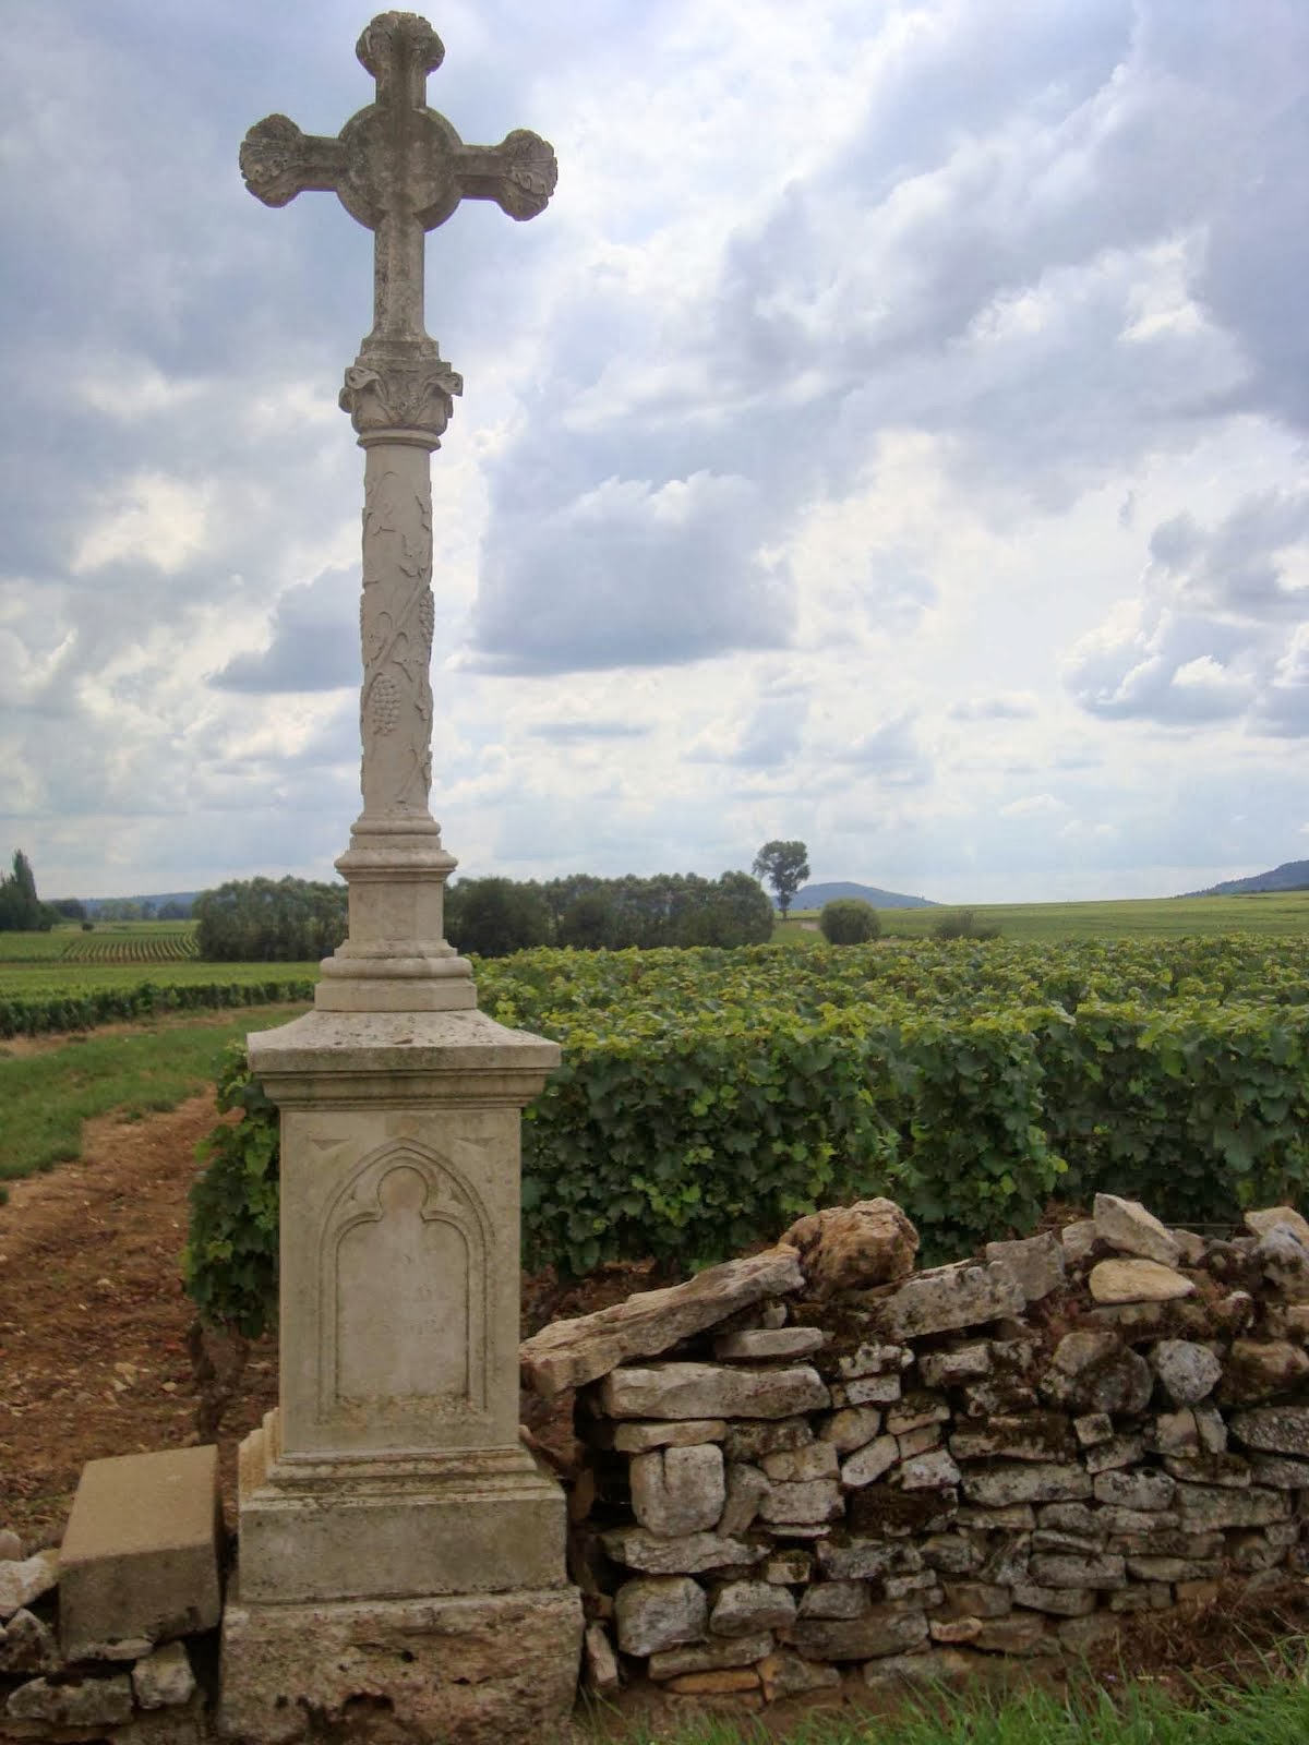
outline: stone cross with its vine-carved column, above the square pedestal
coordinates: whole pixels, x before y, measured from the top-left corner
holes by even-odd
[[[323,190],[374,232],[374,328],[346,370],[340,405],[367,450],[363,510],[363,811],[337,867],[349,885],[349,939],[323,965],[326,1010],[438,1010],[476,1002],[469,967],[443,939],[443,886],[456,862],[428,810],[431,792],[429,454],[463,382],[424,330],[424,239],[464,199],[511,218],[545,211],[552,147],[517,129],[464,145],[426,106],[445,58],[431,24],[382,12],[356,45],[377,99],[333,138],[269,115],[246,134],[241,174],[267,206]]]

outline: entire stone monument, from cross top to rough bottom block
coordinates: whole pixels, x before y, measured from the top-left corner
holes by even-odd
[[[340,394],[367,455],[349,937],[314,1010],[248,1038],[281,1108],[279,1405],[241,1445],[223,1616],[220,1731],[251,1745],[538,1745],[581,1644],[564,1497],[518,1441],[518,1134],[559,1049],[476,1010],[428,810],[429,457],[461,384],[422,330],[422,243],[461,197],[532,216],[553,154],[463,145],[424,103],[442,52],[382,14],[358,47],[374,105],[337,140],[272,115],[241,154],[267,204],[332,188],[377,237]]]

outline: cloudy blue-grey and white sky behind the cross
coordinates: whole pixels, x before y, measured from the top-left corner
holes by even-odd
[[[372,237],[269,209],[342,0],[5,0],[0,859],[332,878]],[[1309,857],[1304,0],[449,0],[559,154],[428,237],[433,813],[463,876],[944,902]]]

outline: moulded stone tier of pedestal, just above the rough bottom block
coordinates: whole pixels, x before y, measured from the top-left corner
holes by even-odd
[[[271,1412],[241,1443],[250,1604],[564,1586],[564,1492],[525,1448],[279,1461],[276,1438]]]

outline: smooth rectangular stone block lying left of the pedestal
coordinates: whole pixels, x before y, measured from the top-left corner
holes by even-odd
[[[211,1630],[220,1532],[216,1447],[87,1461],[59,1557],[65,1658]]]

